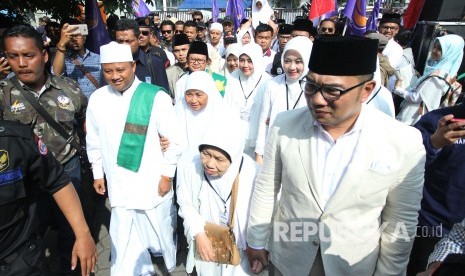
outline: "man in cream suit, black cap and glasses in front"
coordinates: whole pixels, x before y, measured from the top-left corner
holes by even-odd
[[[364,105],[377,41],[322,37],[301,81],[308,108],[278,115],[248,228],[252,270],[402,275],[420,208],[420,133]],[[281,190],[281,197],[277,194]]]

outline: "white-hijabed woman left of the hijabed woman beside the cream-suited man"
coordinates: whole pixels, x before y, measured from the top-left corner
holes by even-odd
[[[271,79],[265,72],[262,48],[250,43],[239,52],[239,70],[228,79],[224,99],[242,120],[245,135],[244,152],[255,158],[255,140],[263,100],[264,84]]]

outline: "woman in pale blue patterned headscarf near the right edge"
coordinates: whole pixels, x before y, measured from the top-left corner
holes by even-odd
[[[400,106],[397,120],[415,124],[420,117],[439,108],[441,97],[452,90],[463,59],[464,40],[454,34],[436,38],[426,60],[423,75],[409,91],[397,85],[394,93],[405,100]]]

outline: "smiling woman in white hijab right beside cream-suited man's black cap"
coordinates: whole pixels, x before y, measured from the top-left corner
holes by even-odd
[[[289,40],[281,56],[284,74],[269,80],[264,88],[255,147],[256,161],[260,164],[263,161],[268,126],[273,125],[276,115],[283,111],[307,106],[299,80],[308,73],[312,46],[312,41],[304,36]]]

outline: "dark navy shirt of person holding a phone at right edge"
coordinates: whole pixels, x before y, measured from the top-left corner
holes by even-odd
[[[439,238],[465,217],[465,139],[460,138],[440,150],[433,148],[430,142],[439,119],[448,114],[463,118],[465,106],[434,110],[415,124],[422,133],[426,149],[425,185],[418,226],[422,227],[422,235]]]

